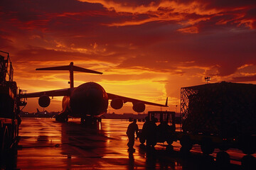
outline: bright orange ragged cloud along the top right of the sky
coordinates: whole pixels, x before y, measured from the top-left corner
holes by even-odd
[[[115,11],[119,16],[132,15],[129,21],[119,21],[118,23],[111,23],[108,26],[130,26],[140,25],[152,21],[168,22],[176,21],[181,25],[194,25],[198,21],[206,20],[214,16],[224,16],[233,11],[242,11],[242,13],[235,13],[240,17],[236,17],[233,23],[238,26],[246,25],[253,28],[255,25],[255,15],[252,14],[245,19],[242,16],[247,15],[252,8],[255,8],[253,1],[107,1],[107,0],[80,0],[84,2],[91,2],[102,4],[109,11]],[[138,18],[137,16],[146,14],[146,18]],[[191,18],[191,15],[198,17]],[[225,23],[225,21],[223,21]],[[195,33],[193,31],[193,33]]]

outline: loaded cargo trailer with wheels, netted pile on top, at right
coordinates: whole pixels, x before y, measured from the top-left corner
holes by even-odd
[[[215,148],[256,151],[256,85],[221,82],[181,88],[181,150],[201,145],[204,154]]]

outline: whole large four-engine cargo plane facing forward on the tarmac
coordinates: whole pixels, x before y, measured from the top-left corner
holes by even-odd
[[[97,122],[101,121],[100,115],[107,113],[108,100],[112,100],[110,106],[114,109],[122,108],[124,103],[132,102],[133,110],[137,113],[141,113],[145,110],[145,104],[151,106],[167,106],[158,103],[151,103],[147,101],[137,100],[135,98],[127,98],[116,94],[110,94],[103,89],[100,84],[95,82],[87,82],[81,84],[78,87],[74,87],[73,72],[87,72],[92,74],[102,74],[102,72],[96,72],[91,69],[84,69],[77,67],[70,62],[67,66],[60,67],[46,67],[36,70],[68,70],[70,72],[70,88],[58,89],[53,91],[41,91],[36,93],[21,94],[20,98],[34,98],[39,97],[38,103],[41,107],[46,108],[50,105],[49,96],[63,96],[61,111],[55,116],[55,119],[59,122],[68,121],[68,117],[81,118],[81,123]]]

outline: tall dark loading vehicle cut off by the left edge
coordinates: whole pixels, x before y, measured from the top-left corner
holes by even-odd
[[[8,52],[0,55],[0,152],[11,148],[18,139],[19,106],[26,102],[20,101],[18,93],[22,93],[16,85],[14,69]],[[7,55],[6,56],[3,56]]]

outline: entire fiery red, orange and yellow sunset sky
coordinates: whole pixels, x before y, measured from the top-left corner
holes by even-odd
[[[76,73],[75,86],[96,81],[112,94],[163,104],[168,96],[176,111],[181,87],[204,77],[256,83],[255,16],[255,1],[3,0],[0,50],[28,92],[68,88],[68,72],[35,69],[74,62],[104,73]],[[24,111],[36,108],[29,99]],[[61,98],[46,109],[61,111]],[[126,103],[114,112],[133,111]]]

